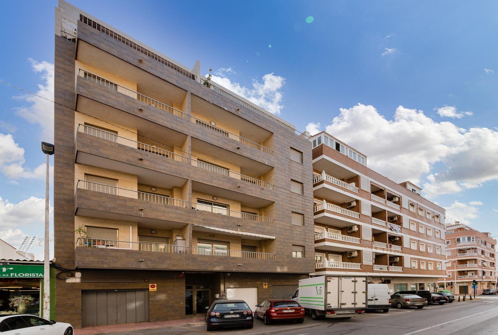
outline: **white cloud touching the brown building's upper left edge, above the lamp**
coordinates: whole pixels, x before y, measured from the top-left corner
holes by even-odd
[[[43,84],[38,84],[37,95],[54,100],[54,64],[47,61],[38,62],[29,58],[31,68],[40,73]],[[54,104],[32,94],[14,97],[28,103],[27,106],[15,108],[16,114],[32,124],[41,127],[41,139],[45,142],[53,142],[54,139]]]

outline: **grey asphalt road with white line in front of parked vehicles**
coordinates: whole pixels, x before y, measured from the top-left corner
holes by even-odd
[[[373,312],[350,320],[314,321],[303,324],[279,323],[264,326],[254,321],[254,328],[206,332],[205,323],[161,329],[111,333],[110,335],[496,335],[498,334],[498,297],[481,300],[430,305],[422,310],[391,309]]]

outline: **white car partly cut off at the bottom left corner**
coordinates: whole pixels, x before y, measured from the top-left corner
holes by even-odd
[[[0,317],[1,335],[73,335],[73,326],[48,321],[34,315],[19,314]]]

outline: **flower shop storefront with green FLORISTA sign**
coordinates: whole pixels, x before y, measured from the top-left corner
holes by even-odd
[[[43,265],[0,266],[0,316],[40,315]]]

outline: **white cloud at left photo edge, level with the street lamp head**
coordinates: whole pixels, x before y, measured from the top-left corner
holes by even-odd
[[[15,143],[12,135],[0,133],[0,170],[5,176],[11,179],[39,179],[45,177],[47,167],[45,163],[34,169],[24,167],[24,163],[24,149]],[[50,174],[53,175],[53,167],[51,166],[50,168]]]

